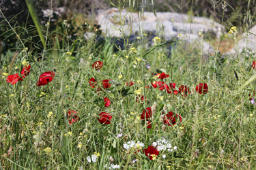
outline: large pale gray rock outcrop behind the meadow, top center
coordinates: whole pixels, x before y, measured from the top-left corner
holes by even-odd
[[[189,39],[192,46],[197,45],[199,47],[201,47],[199,45],[201,44],[199,37],[201,29],[203,29],[204,35],[216,38],[221,37],[222,31],[225,30],[221,24],[204,17],[190,17],[186,14],[173,12],[156,12],[156,16],[153,12],[144,12],[139,17],[139,13],[127,12],[126,10],[119,13],[119,10],[115,7],[109,10],[99,10],[96,20],[106,36],[122,37],[120,30],[125,36],[129,33],[138,34],[139,31],[142,31],[141,36],[143,36],[143,33],[153,32],[170,40],[177,39],[178,35],[182,34],[182,39],[186,41]],[[210,52],[212,52],[212,47],[203,41],[203,52],[207,53],[209,47]]]

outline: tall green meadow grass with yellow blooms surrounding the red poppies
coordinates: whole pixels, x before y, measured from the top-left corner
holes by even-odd
[[[67,31],[67,25],[63,27]],[[187,42],[176,41],[168,56],[163,39],[152,48],[127,44],[126,50],[113,52],[111,39],[99,45],[94,39],[85,40],[82,31],[74,41],[64,35],[61,48],[57,37],[47,40],[52,35],[47,27],[43,33],[47,44],[42,53],[34,54],[33,46],[19,50],[23,47],[20,42],[17,54],[1,55],[0,169],[105,169],[111,164],[119,169],[256,166],[256,106],[249,100],[255,90],[253,55],[216,52],[206,56],[202,49],[187,49]],[[200,47],[201,41],[198,44]],[[163,55],[159,57],[159,53]],[[20,75],[23,61],[31,65],[30,74],[14,85],[6,82],[5,73]],[[100,71],[91,67],[96,61],[103,62]],[[156,69],[169,74],[162,81],[175,83],[173,90],[186,85],[191,93],[184,97],[153,88],[151,83],[160,81],[154,76]],[[46,71],[55,71],[53,81],[36,86]],[[89,85],[91,78],[98,84],[94,88]],[[100,81],[108,79],[113,80],[111,88],[104,89]],[[134,84],[128,87],[126,82]],[[208,84],[207,94],[195,90],[199,83]],[[96,92],[97,88],[102,90]],[[137,102],[139,95],[147,101]],[[104,97],[110,99],[109,107],[104,107]],[[141,114],[154,103],[156,113],[148,119],[152,129],[147,129]],[[69,123],[69,110],[76,111],[77,122]],[[111,124],[100,124],[101,112],[111,114]],[[161,118],[167,112],[180,114],[182,121],[167,126]],[[121,133],[122,137],[117,137]],[[150,160],[143,149],[158,139],[166,139],[171,149],[176,146],[177,150],[160,150],[156,159]],[[145,146],[126,150],[128,141]],[[93,154],[98,154],[96,163],[89,163],[87,156]],[[134,159],[137,161],[130,164]]]

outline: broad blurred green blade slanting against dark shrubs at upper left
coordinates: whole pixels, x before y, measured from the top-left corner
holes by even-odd
[[[42,44],[43,44],[44,48],[46,48],[46,44],[45,44],[45,41],[44,41],[44,35],[41,31],[40,21],[38,19],[38,15],[35,12],[35,7],[33,7],[33,2],[31,0],[26,0],[26,3],[27,3],[27,8],[29,8],[29,13],[32,17],[33,23],[35,24],[35,27],[38,30],[38,34],[39,34],[39,37],[42,41]]]

